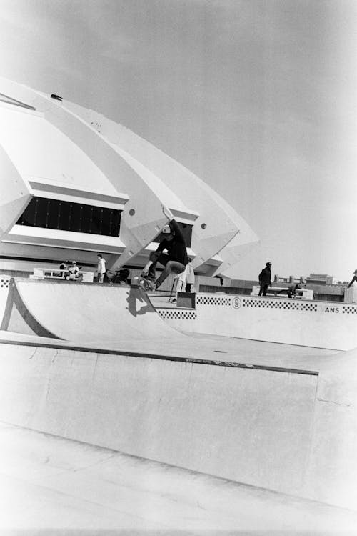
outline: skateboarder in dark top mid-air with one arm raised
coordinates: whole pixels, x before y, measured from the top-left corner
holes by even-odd
[[[141,272],[141,277],[144,278],[144,289],[156,290],[166,277],[171,274],[181,274],[188,263],[186,242],[183,237],[180,227],[167,207],[162,207],[162,212],[169,220],[169,224],[162,229],[164,239],[160,242],[156,252],[151,252],[149,262]],[[167,253],[164,253],[166,249]],[[161,275],[156,277],[156,264],[160,263],[164,266]]]

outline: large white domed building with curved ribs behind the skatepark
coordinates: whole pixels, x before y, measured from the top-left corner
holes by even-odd
[[[171,209],[196,272],[230,269],[258,237],[201,179],[96,111],[0,79],[0,270],[75,259],[142,267]]]

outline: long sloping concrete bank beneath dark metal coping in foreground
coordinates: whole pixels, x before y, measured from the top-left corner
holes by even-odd
[[[357,389],[350,378],[342,393],[336,378],[321,383],[313,372],[6,344],[0,350],[3,422],[357,507]]]

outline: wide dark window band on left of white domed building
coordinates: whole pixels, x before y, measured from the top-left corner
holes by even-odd
[[[33,197],[18,225],[119,237],[121,211]]]

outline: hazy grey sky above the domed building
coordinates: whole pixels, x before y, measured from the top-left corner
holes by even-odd
[[[256,278],[269,260],[281,276],[351,279],[356,0],[0,0],[0,8],[2,76],[124,124],[246,219],[261,245],[236,277]]]

